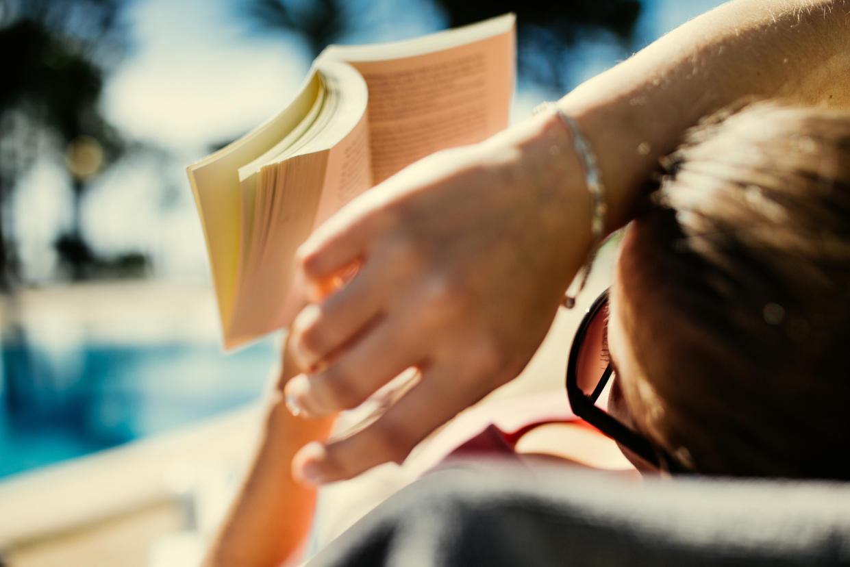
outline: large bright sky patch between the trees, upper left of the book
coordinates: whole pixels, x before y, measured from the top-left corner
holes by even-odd
[[[262,122],[309,64],[297,40],[251,37],[224,3],[139,0],[127,20],[135,48],[108,84],[107,116],[133,137],[175,150]]]

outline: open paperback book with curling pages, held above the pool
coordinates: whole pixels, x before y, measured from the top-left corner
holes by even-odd
[[[507,126],[514,17],[405,42],[326,48],[297,96],[188,168],[224,347],[286,326],[297,247],[354,196]]]

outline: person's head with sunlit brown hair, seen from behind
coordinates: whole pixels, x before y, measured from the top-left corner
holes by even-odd
[[[850,478],[850,114],[716,116],[668,168],[612,291],[636,427],[698,472]]]

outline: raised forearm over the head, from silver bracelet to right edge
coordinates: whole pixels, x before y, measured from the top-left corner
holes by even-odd
[[[727,3],[565,96],[598,155],[609,228],[700,117],[745,97],[850,107],[848,12],[847,0]]]

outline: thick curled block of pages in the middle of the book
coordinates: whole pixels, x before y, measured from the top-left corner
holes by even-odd
[[[292,285],[297,247],[317,218],[371,186],[363,77],[339,61],[317,61],[316,68],[326,92],[313,124],[289,150],[248,172],[254,180],[244,231],[250,242],[234,319],[225,331],[227,348],[289,324],[302,300]]]

